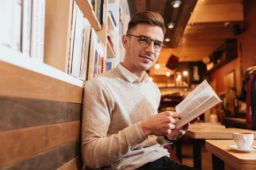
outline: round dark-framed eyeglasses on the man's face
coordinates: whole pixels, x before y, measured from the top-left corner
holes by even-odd
[[[131,34],[128,34],[127,36],[129,35]],[[142,36],[142,37],[135,36],[135,35],[131,35],[131,36],[140,38],[139,43],[140,43],[140,46],[143,48],[149,47],[149,45],[151,44],[151,41],[154,41],[154,50],[157,52],[162,52],[163,49],[166,47],[165,43],[163,43],[162,41],[151,40],[149,37],[145,37],[145,36]]]

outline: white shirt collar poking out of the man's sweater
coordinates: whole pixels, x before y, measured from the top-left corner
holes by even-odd
[[[117,65],[117,67],[119,68],[119,70],[121,71],[122,75],[128,79],[129,82],[133,83],[133,82],[141,82],[141,80],[135,75],[133,74],[131,71],[127,70],[124,66],[122,66],[121,63],[119,63]],[[142,81],[148,82],[149,78],[148,78],[148,74],[145,73],[143,76]]]

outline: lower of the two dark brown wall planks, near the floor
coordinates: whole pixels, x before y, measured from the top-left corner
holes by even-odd
[[[2,167],[0,170],[56,170],[77,156],[81,156],[80,138]]]

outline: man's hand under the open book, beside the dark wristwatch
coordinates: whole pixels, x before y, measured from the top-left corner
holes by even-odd
[[[172,130],[171,133],[167,135],[167,138],[169,140],[176,140],[179,139],[181,136],[185,135],[186,131],[189,129],[190,125],[195,124],[196,122],[199,121],[199,117],[196,117],[193,119],[191,122],[187,123],[183,127],[180,127],[179,129],[174,129]]]

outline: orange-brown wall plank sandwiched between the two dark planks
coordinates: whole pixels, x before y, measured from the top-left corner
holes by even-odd
[[[0,167],[77,139],[80,131],[80,121],[2,131]],[[56,154],[60,158],[68,153]]]

